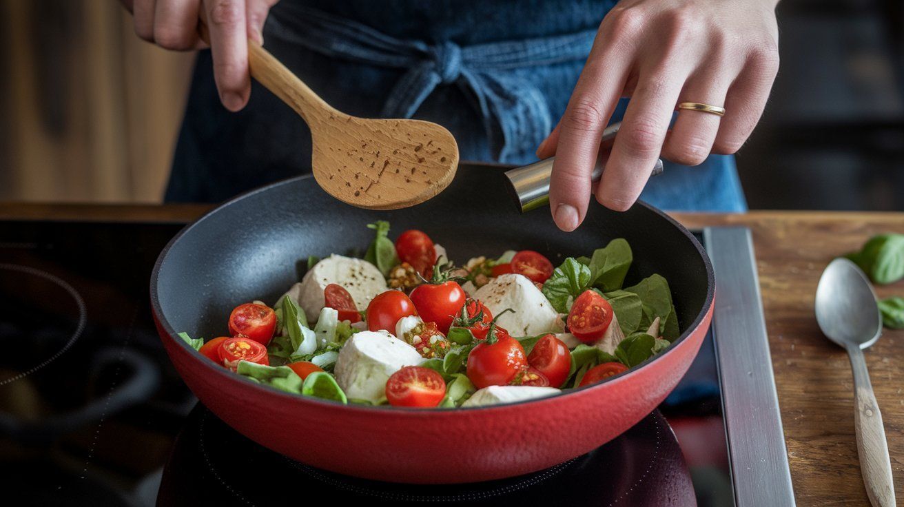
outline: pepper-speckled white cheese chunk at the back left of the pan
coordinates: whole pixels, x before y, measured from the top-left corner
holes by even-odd
[[[343,286],[359,310],[367,308],[374,296],[389,290],[380,269],[360,258],[331,255],[314,265],[301,280],[297,301],[313,322],[324,307],[324,289],[330,284]],[[293,286],[289,294],[295,290]]]

